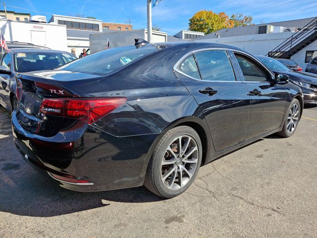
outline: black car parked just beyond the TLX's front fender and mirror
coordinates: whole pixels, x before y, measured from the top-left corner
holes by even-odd
[[[317,104],[317,75],[306,72],[294,72],[281,62],[265,56],[257,56],[273,73],[283,73],[289,76],[292,83],[298,85],[304,95],[305,104]]]

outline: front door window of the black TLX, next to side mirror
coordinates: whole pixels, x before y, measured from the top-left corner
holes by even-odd
[[[251,82],[270,81],[267,73],[260,66],[256,65],[249,58],[235,54],[241,67],[244,79]]]

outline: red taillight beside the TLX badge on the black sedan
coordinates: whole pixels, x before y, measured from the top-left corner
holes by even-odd
[[[54,98],[44,99],[40,112],[65,118],[79,119],[91,124],[105,117],[126,102],[123,97],[110,98]]]

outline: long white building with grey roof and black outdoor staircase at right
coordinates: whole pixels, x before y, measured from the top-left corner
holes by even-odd
[[[295,60],[302,68],[317,55],[317,18],[226,28],[197,42],[235,46],[255,55]]]

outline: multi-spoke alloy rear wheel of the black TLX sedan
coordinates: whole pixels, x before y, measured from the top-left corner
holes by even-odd
[[[177,190],[192,178],[197,170],[199,151],[196,141],[182,135],[167,147],[161,162],[161,179],[165,187]]]

